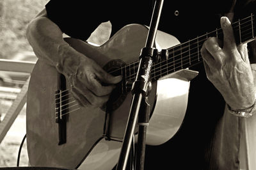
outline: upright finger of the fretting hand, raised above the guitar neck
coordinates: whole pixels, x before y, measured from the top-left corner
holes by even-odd
[[[223,30],[223,48],[235,50],[236,40],[230,20],[227,17],[221,17],[220,24]]]

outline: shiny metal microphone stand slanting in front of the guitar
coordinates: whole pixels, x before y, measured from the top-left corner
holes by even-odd
[[[134,135],[134,129],[136,127],[138,117],[139,132],[138,148],[136,151],[136,170],[143,170],[144,168],[145,141],[147,125],[149,121],[147,96],[148,93],[150,92],[149,85],[152,63],[153,61],[156,61],[158,57],[158,52],[154,48],[154,42],[156,39],[157,27],[159,24],[162,8],[163,0],[156,0],[150,22],[150,28],[148,30],[147,42],[145,47],[141,49],[138,72],[136,75],[136,79],[132,84],[132,104],[127,122],[127,127],[125,129],[124,141],[122,143],[120,157],[118,160],[118,164],[116,166],[117,170],[125,170],[126,168],[129,151],[131,150],[132,137]]]

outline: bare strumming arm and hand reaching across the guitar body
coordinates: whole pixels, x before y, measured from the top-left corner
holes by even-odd
[[[68,45],[61,29],[47,18],[46,10],[29,23],[27,38],[39,59],[65,75],[70,92],[83,106],[102,107],[115,88],[113,84],[122,80],[121,76],[113,77],[93,59]]]

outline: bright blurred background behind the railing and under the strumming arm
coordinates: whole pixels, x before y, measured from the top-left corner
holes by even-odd
[[[33,62],[37,60],[26,38],[26,28],[30,20],[44,8],[48,1],[0,0],[0,60]],[[110,22],[102,23],[92,33],[88,42],[101,45],[108,40],[110,31]],[[13,101],[29,76],[30,73],[10,72],[0,68],[0,125],[1,123],[4,125],[3,120],[6,113],[10,112]],[[15,118],[3,140],[0,141],[0,167],[17,166],[19,148],[25,134],[26,104]],[[29,166],[26,148],[25,140],[22,145],[19,166]]]

